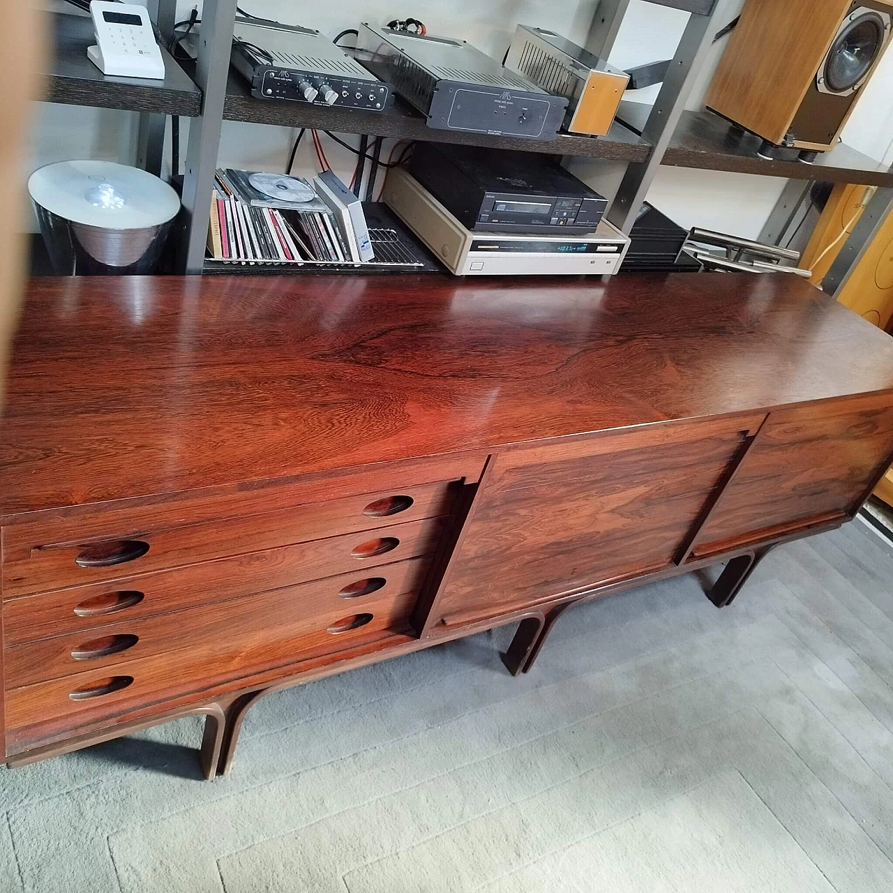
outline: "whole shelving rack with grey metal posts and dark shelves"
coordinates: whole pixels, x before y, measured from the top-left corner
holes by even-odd
[[[214,169],[222,121],[251,121],[287,127],[310,127],[405,139],[433,139],[472,143],[505,149],[524,149],[549,154],[577,155],[627,163],[622,183],[613,196],[608,219],[629,232],[648,188],[662,164],[714,171],[739,171],[764,176],[797,178],[781,196],[764,230],[764,240],[780,239],[790,220],[797,196],[809,179],[865,183],[881,188],[840,252],[826,280],[830,288],[846,279],[847,271],[869,243],[872,232],[889,212],[893,200],[893,171],[847,146],[838,146],[813,167],[792,162],[769,161],[756,155],[746,135],[730,133],[729,126],[712,113],[688,112],[685,105],[702,75],[715,32],[726,24],[716,21],[716,0],[650,0],[690,13],[676,54],[659,95],[652,106],[634,109],[624,104],[621,118],[605,137],[560,135],[552,141],[462,135],[447,130],[431,131],[424,120],[401,104],[375,115],[340,108],[303,104],[276,104],[250,96],[246,86],[230,72],[230,41],[236,20],[236,0],[204,0],[202,30],[197,42],[196,71],[189,79],[165,54],[170,76],[164,81],[106,78],[93,69],[76,40],[58,44],[53,71],[48,72],[47,100],[126,108],[141,113],[139,163],[160,171],[165,115],[192,116],[186,150],[182,200],[183,225],[179,234],[180,268],[192,274],[204,270],[207,207],[213,188]],[[606,56],[629,7],[630,0],[601,0],[591,23],[586,46]],[[149,12],[162,34],[172,33],[175,0],[149,0]],[[71,19],[58,16],[58,20]],[[84,20],[87,21],[88,20]],[[84,27],[83,25],[79,27]],[[89,27],[89,23],[87,24]],[[81,40],[82,43],[82,40]],[[194,82],[193,82],[194,81]],[[199,92],[200,91],[200,92]]]

